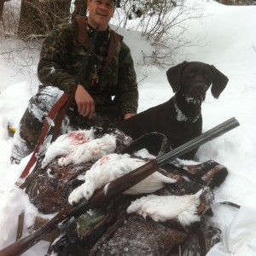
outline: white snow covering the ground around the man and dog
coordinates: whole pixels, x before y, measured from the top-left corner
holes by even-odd
[[[179,49],[175,64],[182,61],[206,62],[214,65],[230,79],[218,100],[208,92],[206,101],[202,104],[203,131],[231,117],[236,117],[240,126],[202,145],[196,154],[199,162],[215,160],[228,168],[228,177],[218,189],[214,189],[214,215],[209,218],[215,226],[225,230],[239,211],[230,206],[219,205],[219,201],[232,201],[247,212],[254,212],[254,216],[256,211],[256,119],[253,103],[256,101],[256,7],[224,6],[211,0],[204,3],[205,18],[200,21],[190,20],[187,32],[188,39],[201,38],[201,42]],[[137,79],[141,81],[138,111],[166,102],[173,95],[166,79],[167,68],[140,66],[139,63],[143,63],[140,49],[148,51],[150,46],[137,34],[133,37],[133,34],[126,34],[124,30],[121,32],[125,36],[125,42],[131,47],[134,62],[137,64]],[[4,38],[1,37],[1,40],[3,43]],[[9,43],[12,39],[6,40]],[[26,209],[24,234],[28,232],[27,228],[38,214],[25,193],[15,186],[29,157],[22,160],[20,165],[10,165],[13,138],[9,137],[7,130],[8,123],[17,127],[29,98],[37,91],[38,79],[35,71],[38,52],[33,52],[33,63],[26,68],[20,69],[12,65],[8,58],[0,59],[0,148],[3,148],[0,156],[0,248],[15,241],[20,212]],[[143,78],[145,73],[147,76]],[[250,224],[247,224],[247,229],[240,236],[248,230]],[[227,232],[226,235],[230,236],[230,233]],[[252,245],[249,248],[255,248],[255,236],[247,244]],[[40,241],[24,255],[44,255],[47,247],[47,242]],[[224,255],[230,255],[230,251]]]

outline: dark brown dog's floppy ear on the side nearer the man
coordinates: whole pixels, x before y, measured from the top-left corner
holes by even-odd
[[[181,87],[181,73],[187,63],[187,61],[183,61],[174,67],[170,67],[166,72],[168,82],[171,84],[173,92],[176,92]]]

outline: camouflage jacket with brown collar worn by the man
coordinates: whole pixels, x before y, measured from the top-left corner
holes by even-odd
[[[78,17],[73,23],[57,26],[44,40],[38,63],[38,79],[41,83],[68,90],[76,80],[90,46],[84,19]],[[89,75],[96,63],[94,50],[79,82],[93,97],[98,113],[106,113],[111,109],[120,116],[137,113],[137,77],[130,49],[122,39],[110,30],[108,57],[98,84],[92,85]]]

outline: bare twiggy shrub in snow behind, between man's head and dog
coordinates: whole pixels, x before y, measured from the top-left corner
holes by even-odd
[[[203,17],[203,5],[199,1],[124,0],[116,13],[115,25],[142,32],[154,46],[153,55],[144,55],[146,64],[169,65],[174,62],[178,49],[200,40],[195,38],[192,42],[184,36],[189,29],[189,20]]]

